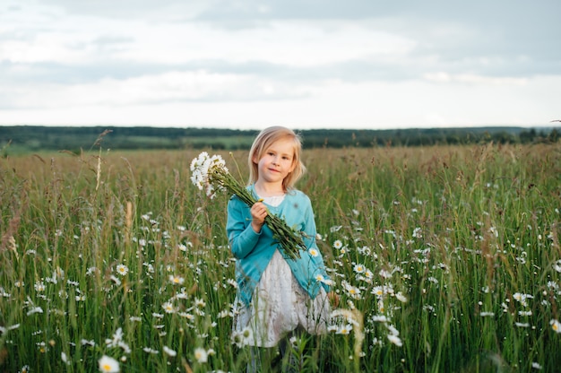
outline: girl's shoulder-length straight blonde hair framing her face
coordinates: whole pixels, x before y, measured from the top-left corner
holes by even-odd
[[[272,126],[263,129],[263,131],[255,137],[253,145],[251,145],[251,150],[247,157],[249,184],[255,183],[257,178],[259,178],[259,167],[254,162],[254,159],[260,160],[273,143],[285,139],[291,140],[294,143],[294,158],[292,159],[294,169],[282,180],[282,187],[288,192],[294,187],[298,179],[304,175],[306,166],[304,166],[301,160],[302,142],[300,141],[300,136],[289,128]]]

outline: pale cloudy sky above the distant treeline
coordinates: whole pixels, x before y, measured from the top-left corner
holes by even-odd
[[[561,119],[559,0],[3,0],[0,125]]]

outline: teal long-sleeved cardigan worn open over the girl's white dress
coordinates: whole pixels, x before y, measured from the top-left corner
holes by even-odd
[[[255,186],[247,186],[255,197]],[[282,217],[289,227],[304,233],[304,242],[308,250],[300,250],[299,259],[286,259],[294,277],[302,288],[307,291],[312,299],[324,287],[329,291],[330,287],[325,282],[318,282],[316,276],[321,274],[325,280],[329,276],[325,271],[324,258],[317,249],[317,256],[312,256],[309,249],[317,248],[315,243],[315,219],[310,199],[298,190],[291,190],[285,196],[279,206],[267,204],[270,213]],[[272,230],[263,225],[259,233],[251,227],[251,213],[249,206],[241,201],[237,195],[233,195],[228,204],[228,221],[226,231],[232,255],[236,260],[236,281],[239,298],[249,305],[255,287],[261,279],[263,271],[269,265],[275,250],[280,244],[272,239]],[[280,249],[282,254],[282,250]],[[286,256],[285,256],[286,257]]]

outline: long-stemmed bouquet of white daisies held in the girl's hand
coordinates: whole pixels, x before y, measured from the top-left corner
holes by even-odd
[[[229,173],[226,162],[220,155],[210,156],[207,152],[202,152],[194,158],[191,161],[191,181],[211,199],[217,192],[228,192],[229,195],[237,195],[248,206],[257,202],[246,186],[240,185]],[[286,256],[291,259],[300,257],[299,250],[306,249],[300,232],[291,229],[286,221],[271,213],[265,217],[265,224],[272,230],[273,239],[279,241]]]

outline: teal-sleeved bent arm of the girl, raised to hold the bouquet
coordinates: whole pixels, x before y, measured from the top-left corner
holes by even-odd
[[[237,196],[232,196],[228,203],[228,221],[226,232],[232,255],[243,259],[255,248],[261,232],[251,227],[252,217],[249,208]]]

